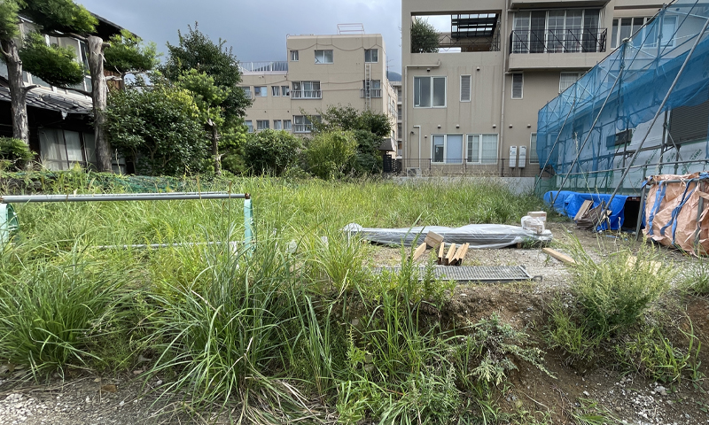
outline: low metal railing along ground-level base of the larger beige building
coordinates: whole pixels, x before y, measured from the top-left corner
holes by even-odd
[[[480,177],[535,177],[539,175],[540,165],[526,162],[519,168],[510,167],[510,160],[505,158],[486,159],[484,163],[471,163],[459,160],[456,164],[433,162],[431,158],[399,159],[399,174],[409,176],[435,175],[471,175]]]

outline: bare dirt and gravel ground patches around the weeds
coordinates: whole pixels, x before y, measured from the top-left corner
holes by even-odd
[[[574,235],[598,261],[604,260],[599,240],[606,248],[624,243],[617,236],[576,230],[571,224],[549,223],[554,247],[564,251],[569,236]],[[621,239],[631,236],[619,236]],[[679,269],[692,267],[694,259],[663,249],[664,258]],[[377,247],[373,266],[394,266],[401,260],[399,250]],[[554,294],[564,292],[570,275],[557,259],[540,248],[471,250],[464,259],[468,266],[522,265],[529,274],[541,275],[541,282],[458,285],[444,314],[456,320],[478,321],[498,313],[517,328],[541,326],[542,312]],[[677,306],[674,306],[677,308]],[[700,371],[709,375],[709,298],[687,298],[679,308],[687,314],[700,339]],[[546,365],[555,377],[534,367],[520,365],[512,375],[510,390],[498,402],[504,410],[524,409],[545,416],[555,424],[572,424],[571,413],[580,406],[596,404],[596,412],[614,418],[609,423],[632,425],[678,425],[709,423],[709,381],[683,379],[680,383],[655,383],[636,375],[595,365],[566,366],[560,352],[548,352]],[[157,379],[157,378],[155,378]],[[142,396],[140,371],[120,376],[82,375],[64,383],[27,387],[12,381],[12,374],[0,368],[0,424],[137,424],[203,423],[169,414],[175,406]],[[152,382],[149,385],[154,384]],[[592,409],[592,410],[593,410]],[[156,415],[159,412],[167,414]],[[596,423],[596,422],[588,422]],[[597,422],[603,423],[603,422]]]

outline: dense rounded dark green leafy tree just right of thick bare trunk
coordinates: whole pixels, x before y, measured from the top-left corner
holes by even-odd
[[[105,111],[112,146],[144,174],[189,174],[205,169],[209,141],[192,93],[153,78],[147,87],[113,91]]]

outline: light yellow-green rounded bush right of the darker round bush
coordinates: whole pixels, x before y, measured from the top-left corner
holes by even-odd
[[[320,133],[305,151],[308,171],[323,180],[339,179],[349,171],[357,153],[357,141],[350,131]]]

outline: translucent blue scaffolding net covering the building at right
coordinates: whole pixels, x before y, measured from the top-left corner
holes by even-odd
[[[669,4],[632,35],[616,19],[618,48],[539,112],[551,178],[538,192],[636,195],[650,175],[709,168],[708,22],[709,0]]]

